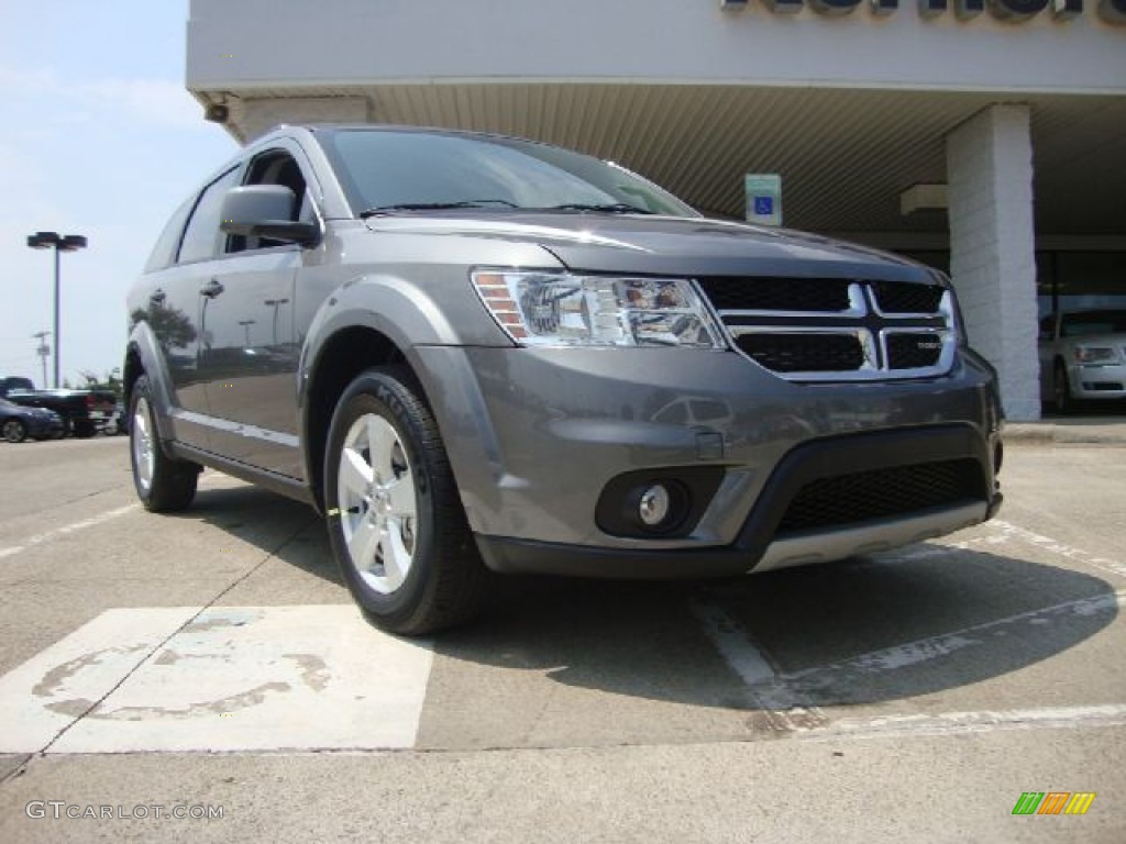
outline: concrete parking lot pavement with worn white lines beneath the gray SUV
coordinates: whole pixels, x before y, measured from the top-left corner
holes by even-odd
[[[208,472],[154,517],[126,464],[0,448],[0,839],[1126,834],[1126,449],[1018,438],[1000,518],[941,540],[512,580],[419,641],[363,621],[306,508]],[[1029,791],[1096,798],[1015,817]],[[115,817],[65,818],[89,807]]]

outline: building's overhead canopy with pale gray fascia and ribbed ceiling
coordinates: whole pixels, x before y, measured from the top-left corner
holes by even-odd
[[[779,173],[785,224],[826,232],[945,232],[942,209],[905,215],[901,195],[946,180],[948,133],[1024,102],[1037,231],[1126,234],[1126,27],[1111,0],[1010,23],[779,6],[337,0],[325,15],[193,0],[188,87],[225,106],[242,140],[270,116],[323,120],[336,102],[340,119],[583,150],[732,217],[745,173]],[[311,99],[321,108],[305,117]]]

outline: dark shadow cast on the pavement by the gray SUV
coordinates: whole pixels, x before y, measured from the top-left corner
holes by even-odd
[[[250,486],[202,490],[179,518],[340,583],[322,521],[304,504]],[[434,637],[436,655],[574,689],[747,710],[875,703],[980,683],[1073,648],[1118,616],[1118,595],[1100,577],[937,542],[727,581],[495,585],[481,619]],[[740,675],[736,663],[753,652],[768,655],[772,676]],[[495,700],[456,704],[470,721]]]

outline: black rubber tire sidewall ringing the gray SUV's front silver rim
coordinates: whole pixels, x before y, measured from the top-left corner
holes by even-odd
[[[329,539],[339,562],[341,576],[363,609],[392,622],[408,619],[427,600],[428,592],[435,585],[431,569],[438,551],[431,469],[419,448],[421,431],[418,421],[400,397],[401,392],[406,393],[408,389],[402,381],[388,374],[366,372],[359,376],[340,397],[332,414],[324,458],[324,502],[329,513]],[[373,413],[382,416],[394,428],[399,441],[406,451],[406,459],[414,476],[417,523],[411,568],[403,584],[390,594],[372,589],[351,564],[339,518],[337,482],[343,441],[357,419]]]

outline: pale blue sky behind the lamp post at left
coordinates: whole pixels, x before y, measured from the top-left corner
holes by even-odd
[[[62,257],[62,376],[120,366],[125,291],[172,210],[236,150],[184,87],[188,0],[0,0],[0,376],[42,383]],[[51,361],[47,363],[51,377]]]

